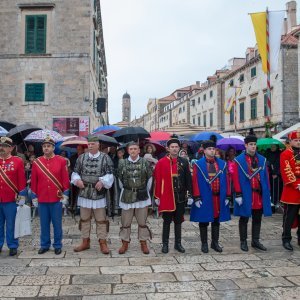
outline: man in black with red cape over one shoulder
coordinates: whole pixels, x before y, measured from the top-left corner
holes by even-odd
[[[178,157],[180,142],[171,138],[167,142],[168,155],[158,161],[154,171],[155,202],[163,217],[162,252],[169,252],[170,225],[174,221],[175,246],[184,253],[181,245],[181,223],[184,221],[184,211],[187,191],[192,194],[192,177],[187,159]]]

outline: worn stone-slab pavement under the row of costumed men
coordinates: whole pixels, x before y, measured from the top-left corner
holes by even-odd
[[[119,255],[120,219],[116,218],[110,226],[111,254],[105,256],[99,252],[95,226],[91,249],[73,252],[74,245],[80,242],[80,232],[71,217],[64,217],[64,248],[57,256],[53,250],[37,254],[39,220],[36,218],[33,236],[20,240],[18,257],[10,258],[5,248],[0,254],[0,297],[75,300],[299,299],[300,247],[294,239],[294,252],[282,248],[281,219],[281,215],[275,214],[263,220],[261,238],[268,248],[265,253],[250,248],[245,254],[239,249],[238,219],[233,218],[221,224],[223,253],[210,249],[208,254],[203,255],[198,224],[186,221],[182,234],[186,253],[180,254],[173,249],[172,232],[170,252],[164,255],[161,253],[162,220],[149,217],[154,233],[150,254],[140,252],[135,223],[129,251]],[[296,235],[295,232],[293,235]]]

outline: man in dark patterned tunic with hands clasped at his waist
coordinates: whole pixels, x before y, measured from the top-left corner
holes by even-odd
[[[103,254],[109,254],[107,234],[109,221],[106,220],[106,191],[114,182],[114,166],[110,157],[99,151],[99,137],[88,136],[88,152],[81,154],[71,175],[71,183],[79,189],[80,206],[79,229],[82,243],[75,252],[90,248],[91,218],[96,220],[96,233]]]

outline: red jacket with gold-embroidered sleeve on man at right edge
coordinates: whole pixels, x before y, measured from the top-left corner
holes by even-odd
[[[295,157],[292,149],[286,149],[280,155],[280,173],[283,180],[281,202],[300,204],[300,157]]]

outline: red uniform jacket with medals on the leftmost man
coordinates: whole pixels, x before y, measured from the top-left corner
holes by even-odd
[[[0,159],[0,168],[15,185],[19,192],[26,188],[26,178],[23,160],[17,156],[8,159]],[[16,193],[5,183],[0,176],[0,202],[16,201]]]

